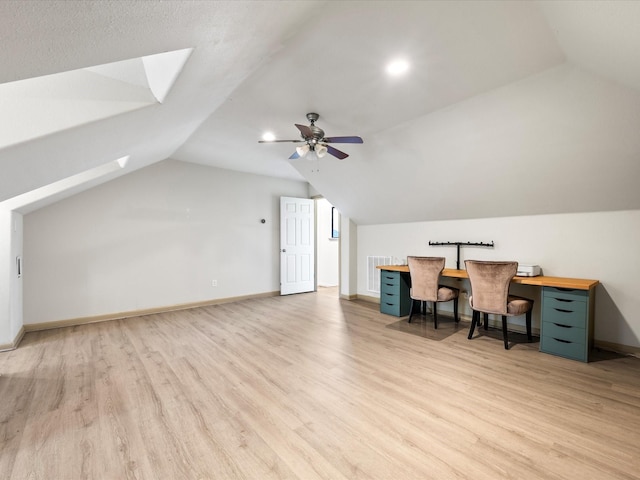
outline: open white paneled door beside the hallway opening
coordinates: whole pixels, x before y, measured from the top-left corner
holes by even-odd
[[[314,224],[313,200],[280,197],[280,295],[315,289]]]

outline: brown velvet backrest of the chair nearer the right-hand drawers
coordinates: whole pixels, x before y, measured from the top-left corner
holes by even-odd
[[[471,283],[471,308],[496,315],[507,314],[509,284],[518,262],[465,260]]]

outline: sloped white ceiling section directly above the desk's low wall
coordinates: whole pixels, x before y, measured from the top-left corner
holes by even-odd
[[[358,225],[640,208],[640,93],[562,65],[293,165]]]

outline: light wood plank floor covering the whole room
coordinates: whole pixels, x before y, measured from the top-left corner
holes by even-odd
[[[28,333],[0,478],[640,478],[640,359],[467,328],[323,290]]]

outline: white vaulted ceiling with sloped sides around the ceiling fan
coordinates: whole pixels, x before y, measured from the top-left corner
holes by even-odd
[[[306,180],[361,224],[640,208],[637,25],[636,1],[3,1],[0,82],[194,50],[162,105],[1,149],[0,201],[130,155],[105,179],[171,157]],[[365,143],[257,142],[310,111]]]

